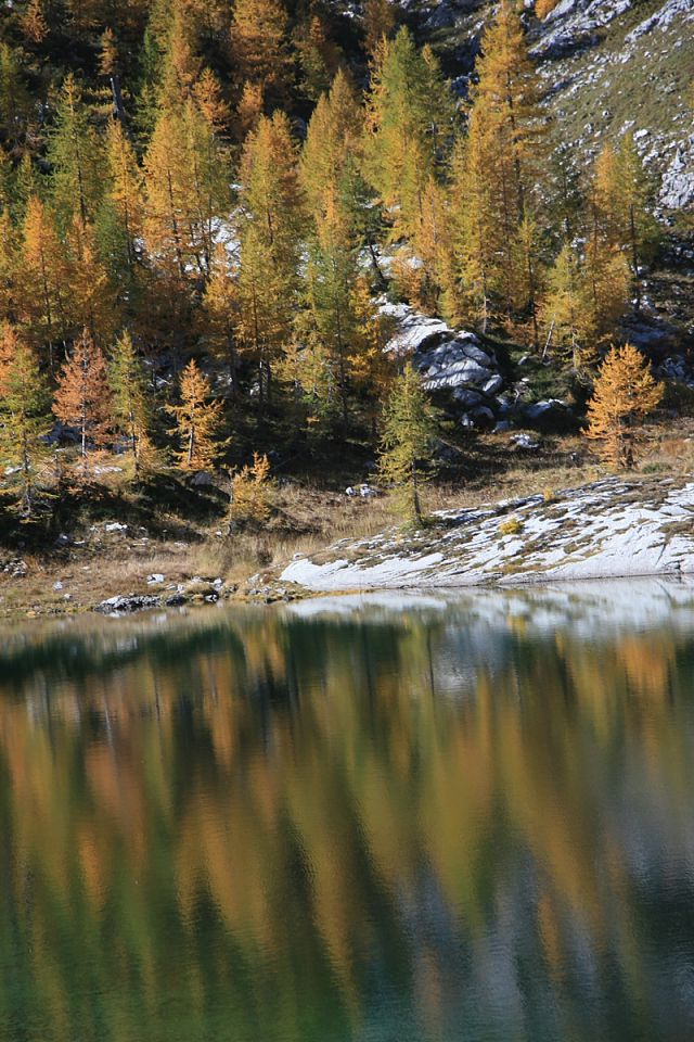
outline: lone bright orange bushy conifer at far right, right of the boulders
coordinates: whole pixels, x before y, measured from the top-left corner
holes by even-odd
[[[600,442],[600,455],[613,467],[633,467],[639,445],[637,422],[656,408],[663,385],[631,344],[613,347],[600,368],[588,404],[588,437]]]

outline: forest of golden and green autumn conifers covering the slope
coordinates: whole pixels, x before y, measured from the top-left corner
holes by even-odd
[[[229,475],[232,520],[262,523],[275,479],[377,466],[420,518],[437,439],[464,456],[484,433],[387,350],[388,302],[520,345],[564,380],[579,423],[609,369],[588,432],[633,463],[629,421],[661,389],[620,323],[663,238],[633,138],[588,158],[564,140],[527,38],[544,9],[488,12],[462,88],[399,14],[388,0],[352,20],[313,0],[5,8],[8,517],[208,471]]]

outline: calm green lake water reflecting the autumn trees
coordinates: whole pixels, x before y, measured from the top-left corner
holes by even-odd
[[[0,628],[1,1042],[694,1038],[694,586]]]

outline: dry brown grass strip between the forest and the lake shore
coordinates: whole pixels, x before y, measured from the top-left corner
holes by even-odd
[[[580,434],[543,435],[537,452],[524,453],[511,445],[507,433],[466,433],[460,448],[460,465],[425,487],[426,513],[530,495],[551,503],[558,491],[608,473]],[[644,428],[642,458],[631,475],[637,482],[633,494],[640,494],[639,475],[689,473],[694,473],[694,417],[678,417],[674,428],[664,410]],[[76,541],[72,545],[56,548],[54,531],[41,543],[15,523],[12,538],[0,543],[0,569],[3,561],[22,558],[27,574],[17,579],[0,571],[0,613],[79,611],[118,594],[167,595],[178,586],[200,599],[205,584],[217,577],[247,589],[249,576],[259,574],[252,585],[261,585],[295,554],[312,555],[340,539],[401,530],[396,497],[348,497],[342,481],[342,474],[332,485],[285,479],[275,487],[273,513],[261,531],[229,534],[223,490],[194,490],[171,473],[134,491],[110,479],[95,498],[80,503],[73,494],[61,505],[59,529],[72,518],[64,529]],[[108,533],[107,521],[124,522],[128,529]],[[514,522],[517,519],[509,518],[502,528]],[[165,582],[147,585],[153,573],[164,575]],[[202,584],[192,582],[198,577]],[[53,588],[56,582],[60,589]]]

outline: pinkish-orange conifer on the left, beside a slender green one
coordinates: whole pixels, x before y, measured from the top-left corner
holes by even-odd
[[[80,474],[88,473],[89,453],[112,436],[113,403],[106,359],[85,329],[57,378],[53,412],[79,432]]]

